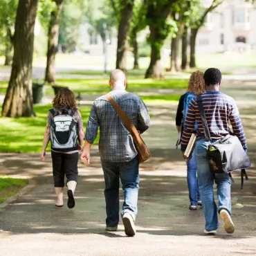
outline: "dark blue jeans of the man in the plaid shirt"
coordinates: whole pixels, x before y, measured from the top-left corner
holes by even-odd
[[[107,226],[118,226],[119,223],[119,177],[124,190],[125,201],[122,205],[122,215],[125,212],[134,217],[138,212],[138,157],[126,163],[111,163],[102,161],[105,179],[105,201],[107,211]]]

